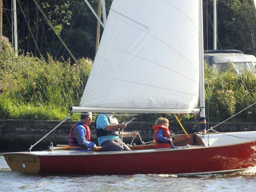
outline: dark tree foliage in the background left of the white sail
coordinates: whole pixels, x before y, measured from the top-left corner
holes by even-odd
[[[83,0],[36,0],[36,2],[76,59],[94,58],[97,19]],[[112,0],[106,1],[107,13],[111,2]],[[3,0],[3,8],[11,9],[11,3],[12,1]],[[89,3],[97,12],[98,0],[89,0]],[[5,10],[3,35],[10,41],[12,41],[11,18],[11,12]],[[17,1],[17,26],[18,48],[25,53],[32,52],[38,57],[40,53],[45,57],[50,53],[53,58],[65,60],[70,57],[34,1]]]

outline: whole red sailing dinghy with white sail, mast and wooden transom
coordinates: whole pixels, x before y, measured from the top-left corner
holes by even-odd
[[[72,113],[200,112],[200,132],[176,135],[175,148],[31,152],[32,146],[29,152],[4,153],[8,165],[30,173],[125,175],[225,173],[255,166],[255,131],[205,133],[202,31],[202,1],[114,0],[80,106],[71,107]]]

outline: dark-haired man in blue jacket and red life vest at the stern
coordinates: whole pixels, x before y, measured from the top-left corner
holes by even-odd
[[[92,113],[82,113],[81,120],[77,121],[70,130],[68,142],[71,146],[82,146],[83,148],[71,149],[76,151],[90,151],[92,148],[96,149],[96,145],[91,141],[92,132],[90,127],[92,121]]]

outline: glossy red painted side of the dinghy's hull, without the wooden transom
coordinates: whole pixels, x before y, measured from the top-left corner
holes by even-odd
[[[256,141],[220,147],[191,147],[133,154],[39,158],[41,173],[132,175],[231,172],[256,166]]]

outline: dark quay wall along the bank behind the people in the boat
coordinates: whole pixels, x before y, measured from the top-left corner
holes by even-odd
[[[46,121],[46,120],[16,120],[16,119],[2,119],[0,120],[0,151],[27,151],[31,145],[35,144],[44,135],[50,132],[60,122]],[[50,142],[53,145],[63,144],[68,145],[68,135],[70,128],[76,122],[64,122],[46,138],[40,141],[32,151],[46,150]],[[181,122],[188,133],[197,132],[198,123],[195,122]],[[209,123],[209,127],[219,124]],[[148,142],[153,140],[154,130],[152,122],[131,122],[127,125],[125,132],[139,131],[142,141]],[[175,134],[184,134],[180,125],[170,125],[171,132]],[[208,123],[206,124],[208,129]],[[94,122],[91,124],[92,140],[97,142],[97,137],[94,129]],[[218,132],[240,132],[240,131],[255,131],[256,122],[225,122],[214,128]],[[132,138],[124,138],[125,143],[131,143]],[[141,144],[140,138],[137,136],[134,141],[137,145]]]

